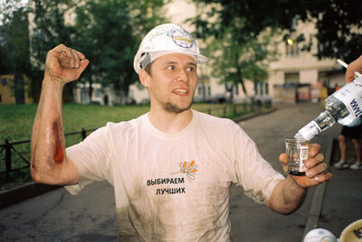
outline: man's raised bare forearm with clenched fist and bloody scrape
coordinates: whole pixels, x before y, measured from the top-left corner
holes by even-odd
[[[65,154],[62,88],[78,79],[88,63],[81,52],[63,44],[47,54],[41,98],[33,123],[31,171],[34,181],[48,184],[78,182],[78,172]]]

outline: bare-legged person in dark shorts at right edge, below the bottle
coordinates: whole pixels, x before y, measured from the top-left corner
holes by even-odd
[[[340,135],[338,136],[339,140],[339,150],[340,150],[340,160],[338,163],[335,163],[333,166],[337,169],[348,168],[347,162],[347,141],[348,139],[352,140],[352,143],[355,147],[357,161],[349,166],[352,170],[362,169],[362,160],[361,160],[361,144],[359,140],[362,138],[362,120],[361,117],[357,117],[348,126],[343,126]]]

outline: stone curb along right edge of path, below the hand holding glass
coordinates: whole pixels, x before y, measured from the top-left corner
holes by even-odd
[[[329,142],[328,146],[329,152],[326,152],[326,156],[324,159],[328,165],[330,164],[330,160],[332,157],[333,144],[334,144],[334,139],[332,139]],[[303,238],[311,229],[318,228],[319,226],[319,216],[320,216],[320,211],[322,209],[325,190],[326,190],[326,182],[323,182],[322,184],[319,184],[316,188],[316,191],[314,191],[310,206],[310,213],[308,215],[306,227],[304,228],[304,233],[303,237],[301,238],[301,241],[303,241]]]

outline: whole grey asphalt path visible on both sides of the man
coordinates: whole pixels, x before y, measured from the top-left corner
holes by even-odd
[[[240,125],[258,145],[262,156],[281,172],[279,154],[284,139],[294,135],[321,111],[319,104],[279,106],[268,115],[242,121]],[[313,141],[327,146],[338,131],[331,128]],[[323,150],[323,152],[326,152]],[[329,151],[328,151],[329,152]],[[234,241],[300,241],[310,214],[315,189],[310,189],[304,205],[290,216],[266,209],[232,187],[231,212]],[[0,241],[117,241],[112,187],[94,182],[78,196],[64,189],[0,209]]]

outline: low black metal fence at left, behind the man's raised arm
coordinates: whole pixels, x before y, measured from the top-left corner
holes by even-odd
[[[81,131],[67,133],[64,134],[64,136],[81,135],[81,140],[84,140],[87,133],[94,130],[95,129],[82,128]],[[30,140],[9,142],[9,140],[5,139],[5,144],[0,144],[0,175],[5,174],[5,176],[8,177],[10,172],[17,172],[30,167],[30,142]],[[27,145],[23,147],[23,149],[15,148],[15,145],[19,147],[20,144]],[[18,156],[16,163],[12,162],[14,161],[14,155]]]

